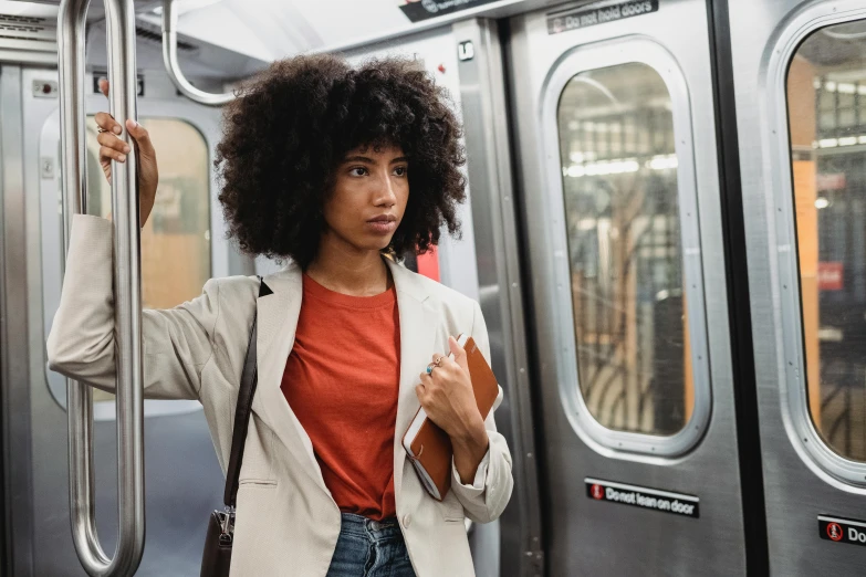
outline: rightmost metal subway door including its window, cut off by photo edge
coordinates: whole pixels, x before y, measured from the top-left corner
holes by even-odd
[[[866,8],[730,0],[772,575],[862,575]]]

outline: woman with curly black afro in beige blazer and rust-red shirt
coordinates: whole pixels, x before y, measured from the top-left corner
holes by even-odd
[[[129,149],[109,115],[96,122],[111,178]],[[125,126],[144,223],[156,155],[140,125]],[[463,517],[497,518],[513,485],[509,449],[492,411],[482,420],[453,339],[472,335],[489,358],[487,328],[476,302],[384,258],[429,249],[442,227],[458,231],[459,137],[444,91],[403,60],[285,60],[226,107],[216,167],[230,234],[250,254],[290,263],[264,277],[267,296],[257,298],[255,277],[213,279],[194,301],[145,311],[143,338],[146,397],[199,399],[225,471],[258,310],[233,576],[472,575]],[[74,218],[48,340],[53,370],[109,390],[112,231]],[[453,445],[442,502],[400,444],[418,407]]]

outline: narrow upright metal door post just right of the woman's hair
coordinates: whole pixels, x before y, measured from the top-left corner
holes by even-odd
[[[490,355],[505,398],[497,427],[513,455],[514,491],[501,517],[501,574],[543,575],[541,510],[530,396],[518,220],[512,190],[505,84],[495,22],[453,25],[455,52],[472,43],[458,64],[479,302]]]

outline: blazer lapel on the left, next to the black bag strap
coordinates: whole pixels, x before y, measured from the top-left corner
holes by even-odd
[[[259,335],[255,340],[259,384],[252,409],[301,463],[301,469],[331,494],[306,434],[280,388],[285,361],[294,346],[298,317],[303,297],[301,269],[291,264],[264,277],[272,294],[258,300]]]

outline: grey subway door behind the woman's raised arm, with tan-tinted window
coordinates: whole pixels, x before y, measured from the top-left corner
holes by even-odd
[[[111,212],[111,189],[98,165],[93,115],[107,111],[96,92],[98,72],[88,74],[88,213]],[[32,534],[13,539],[33,547],[32,575],[82,573],[70,533],[65,379],[45,367],[44,342],[60,302],[62,220],[60,122],[55,70],[22,71],[24,189],[28,197],[28,276],[32,333],[29,471],[12,471],[32,486]],[[159,160],[160,189],[142,231],[143,307],[166,308],[201,294],[211,276],[239,274],[239,256],[225,240],[210,170],[219,135],[219,111],[176,94],[168,77],[142,78],[138,119],[149,130]],[[139,88],[140,90],[140,88]],[[103,547],[114,550],[116,433],[114,396],[94,391],[96,521]],[[197,575],[206,521],[221,506],[223,476],[197,401],[145,401],[147,541],[137,575]]]

